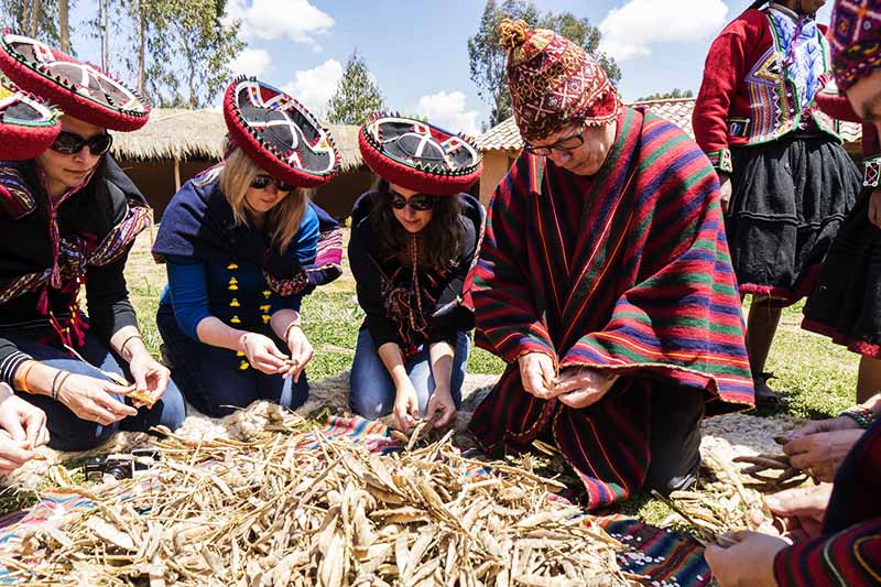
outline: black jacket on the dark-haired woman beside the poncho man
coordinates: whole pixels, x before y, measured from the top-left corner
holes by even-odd
[[[474,312],[461,304],[461,293],[482,235],[485,213],[474,196],[459,194],[458,198],[463,241],[455,265],[445,272],[418,271],[423,315],[415,317],[424,324],[422,330],[414,330],[407,324],[409,313],[416,313],[411,268],[402,265],[395,257],[382,254],[379,237],[370,224],[371,193],[355,203],[349,264],[358,303],[367,314],[361,329],[370,331],[377,348],[395,343],[404,357],[411,358],[425,343],[443,340],[455,347],[456,335],[474,328]]]

